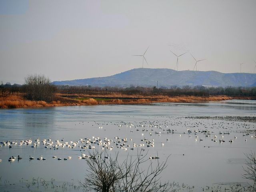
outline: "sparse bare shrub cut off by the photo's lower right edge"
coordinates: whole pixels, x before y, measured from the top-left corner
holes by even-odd
[[[243,178],[250,180],[252,183],[248,183],[251,191],[256,191],[256,156],[255,152],[245,154],[246,156],[246,168],[243,167]]]

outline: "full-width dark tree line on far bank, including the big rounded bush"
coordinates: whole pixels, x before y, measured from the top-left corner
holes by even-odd
[[[144,96],[209,96],[209,95],[227,95],[227,96],[256,96],[256,87],[210,87],[204,86],[171,86],[170,88],[141,87],[131,86],[128,88],[120,87],[94,87],[94,86],[68,86],[54,85],[49,78],[44,75],[30,75],[25,78],[23,85],[0,84],[0,94],[21,95],[29,100],[52,101],[55,93],[60,94],[88,94],[88,95],[144,95]]]

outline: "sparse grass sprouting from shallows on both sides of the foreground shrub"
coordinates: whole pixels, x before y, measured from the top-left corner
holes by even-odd
[[[190,186],[185,183],[170,182],[170,192],[253,192],[247,183],[216,183],[212,186]],[[33,177],[28,180],[21,178],[18,183],[13,183],[0,177],[1,192],[85,192],[85,188],[79,182],[58,182],[54,178],[45,180],[40,177]]]

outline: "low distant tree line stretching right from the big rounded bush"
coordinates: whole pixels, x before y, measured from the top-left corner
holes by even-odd
[[[169,89],[156,87],[93,87],[93,86],[56,86],[57,92],[61,94],[127,94],[127,95],[162,95],[162,96],[256,96],[256,87],[210,87],[204,86],[172,86]]]

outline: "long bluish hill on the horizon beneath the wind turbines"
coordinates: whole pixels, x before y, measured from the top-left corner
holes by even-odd
[[[107,77],[55,81],[55,85],[70,86],[255,86],[256,74],[250,73],[221,73],[217,71],[176,71],[172,69],[136,68]]]

